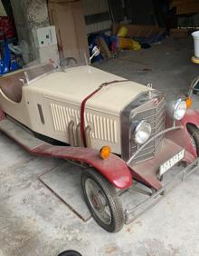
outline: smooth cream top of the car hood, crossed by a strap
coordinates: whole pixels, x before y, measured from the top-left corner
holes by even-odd
[[[62,102],[81,105],[81,102],[98,89],[100,84],[115,80],[120,81],[124,78],[92,66],[71,67],[33,81],[26,90]],[[88,100],[86,108],[119,115],[128,103],[145,91],[147,86],[132,81],[109,84]]]

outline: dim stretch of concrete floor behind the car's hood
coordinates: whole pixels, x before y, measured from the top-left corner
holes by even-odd
[[[125,51],[118,59],[96,66],[141,84],[152,83],[154,88],[171,98],[184,94],[188,84],[199,74],[199,66],[191,63],[193,54],[191,38],[166,38],[152,48]]]

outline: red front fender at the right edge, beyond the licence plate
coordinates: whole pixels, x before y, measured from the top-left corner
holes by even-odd
[[[197,158],[197,153],[195,151],[194,145],[191,141],[190,135],[187,131],[186,125],[187,123],[192,123],[195,126],[199,127],[199,112],[193,109],[188,109],[185,117],[176,122],[176,125],[181,125],[184,128],[181,130],[174,131],[172,133],[168,133],[166,137],[171,139],[173,142],[179,144],[188,153],[191,153],[192,156],[194,156],[194,159]],[[187,162],[193,162],[193,157],[187,156],[189,159],[186,159]]]

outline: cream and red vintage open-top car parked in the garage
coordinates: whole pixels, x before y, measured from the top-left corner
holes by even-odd
[[[199,113],[90,65],[51,64],[0,79],[0,131],[30,153],[79,162],[91,215],[109,232],[128,222],[119,192],[134,181],[163,192],[163,176],[199,154]],[[187,167],[186,167],[187,168]]]

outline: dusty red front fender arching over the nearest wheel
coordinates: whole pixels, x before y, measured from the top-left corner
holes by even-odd
[[[49,143],[43,143],[43,145],[31,150],[31,153],[88,163],[118,189],[127,189],[132,184],[132,174],[128,169],[127,163],[115,154],[110,154],[108,159],[102,160],[100,152],[97,150],[54,146]]]

